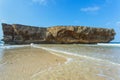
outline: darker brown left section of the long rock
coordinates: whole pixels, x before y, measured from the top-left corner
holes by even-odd
[[[46,28],[2,23],[4,42],[9,44],[41,43],[46,38]]]

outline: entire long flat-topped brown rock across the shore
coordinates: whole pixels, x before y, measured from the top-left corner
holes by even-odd
[[[2,23],[4,42],[28,43],[106,43],[114,39],[113,29],[83,26],[54,26],[49,28]]]

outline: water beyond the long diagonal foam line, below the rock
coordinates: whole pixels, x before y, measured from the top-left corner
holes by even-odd
[[[46,44],[37,46],[120,65],[120,43]]]

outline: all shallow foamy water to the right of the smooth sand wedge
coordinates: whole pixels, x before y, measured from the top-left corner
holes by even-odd
[[[120,80],[119,45],[46,44],[33,47],[75,56],[67,65],[50,72],[55,74],[54,79],[64,74],[65,80]]]

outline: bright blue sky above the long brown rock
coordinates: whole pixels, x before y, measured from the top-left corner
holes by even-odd
[[[114,28],[114,41],[120,41],[119,4],[120,0],[0,0],[0,23]]]

